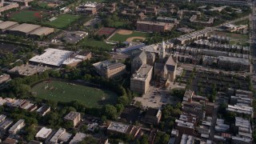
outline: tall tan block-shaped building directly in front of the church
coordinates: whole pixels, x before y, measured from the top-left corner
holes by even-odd
[[[152,71],[153,66],[143,64],[130,78],[130,90],[140,94],[146,94],[146,91],[150,87]]]

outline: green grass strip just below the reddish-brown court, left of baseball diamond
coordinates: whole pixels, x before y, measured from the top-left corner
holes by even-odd
[[[106,42],[103,41],[98,41],[95,39],[90,39],[90,38],[84,38],[82,39],[81,42],[79,42],[80,46],[97,46],[97,47],[102,47],[102,49],[110,51],[113,46],[110,44],[107,44]]]

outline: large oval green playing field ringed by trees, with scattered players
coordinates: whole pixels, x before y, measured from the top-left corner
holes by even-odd
[[[45,87],[48,87],[45,89]],[[118,95],[110,90],[71,84],[68,82],[51,81],[41,82],[32,88],[37,94],[35,97],[50,99],[57,102],[70,102],[77,100],[88,107],[100,107],[117,102]],[[103,98],[103,99],[102,99]],[[105,98],[105,99],[104,99]]]

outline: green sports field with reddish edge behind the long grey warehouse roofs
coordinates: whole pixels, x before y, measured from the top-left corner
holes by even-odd
[[[36,22],[40,21],[40,17],[36,17],[35,14],[39,13],[40,11],[30,11],[30,10],[22,10],[18,12],[14,12],[14,14],[11,14],[10,18],[11,20],[14,20],[16,22]],[[43,15],[44,13],[42,13]]]

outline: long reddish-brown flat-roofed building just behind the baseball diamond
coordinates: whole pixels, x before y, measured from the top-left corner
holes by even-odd
[[[138,31],[165,32],[168,30],[168,24],[165,22],[137,21],[136,26]]]

